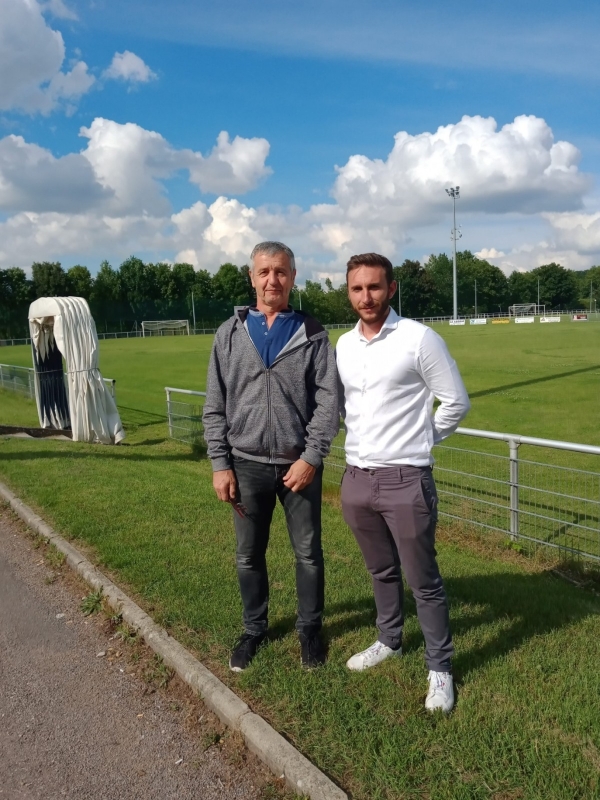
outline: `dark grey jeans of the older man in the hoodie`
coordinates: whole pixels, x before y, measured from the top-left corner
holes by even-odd
[[[236,564],[245,630],[264,633],[268,627],[266,552],[273,510],[279,498],[296,555],[296,630],[304,634],[316,633],[322,624],[325,585],[321,547],[323,467],[301,492],[292,492],[283,483],[289,465],[261,464],[234,456],[233,469],[239,499],[247,510],[244,518],[234,512]]]

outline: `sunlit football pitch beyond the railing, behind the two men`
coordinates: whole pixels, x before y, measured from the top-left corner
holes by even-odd
[[[463,425],[600,444],[600,322],[444,325],[436,330],[456,359],[471,397]],[[331,331],[331,341],[335,344],[342,333]],[[100,368],[117,381],[124,421],[164,416],[165,386],[204,390],[212,339],[102,341]],[[2,348],[0,361],[31,366],[30,348]]]

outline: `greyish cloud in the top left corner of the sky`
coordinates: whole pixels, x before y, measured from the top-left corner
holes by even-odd
[[[46,23],[35,0],[2,0],[0,109],[47,114],[77,101],[95,78],[84,61],[63,71],[64,60],[62,35]]]

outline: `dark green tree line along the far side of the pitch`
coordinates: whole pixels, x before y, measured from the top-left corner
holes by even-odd
[[[392,299],[406,317],[447,316],[452,313],[452,259],[431,255],[424,264],[406,260],[394,267],[398,290]],[[545,264],[529,272],[501,269],[468,250],[457,253],[457,292],[460,315],[507,311],[513,303],[540,303],[547,310],[589,308],[600,288],[600,266],[576,272],[560,264]],[[475,298],[475,283],[477,297]],[[222,264],[215,274],[191,264],[145,263],[135,256],[113,268],[103,261],[95,277],[85,266],[64,270],[59,262],[36,262],[31,277],[19,267],[0,270],[0,338],[28,336],[29,304],[38,297],[84,297],[99,331],[131,331],[142,320],[189,319],[197,328],[214,328],[232,313],[234,305],[254,301],[248,266]],[[292,294],[323,324],[353,322],[346,286],[335,288],[306,281]],[[592,303],[592,309],[594,309]]]

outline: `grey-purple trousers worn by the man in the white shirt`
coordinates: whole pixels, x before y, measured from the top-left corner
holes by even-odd
[[[394,650],[402,643],[402,569],[415,598],[427,666],[450,672],[454,648],[436,561],[437,492],[431,468],[348,466],[342,511],[373,578],[379,641]]]

